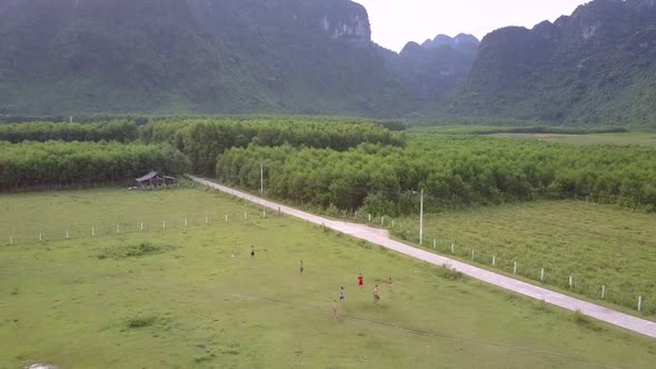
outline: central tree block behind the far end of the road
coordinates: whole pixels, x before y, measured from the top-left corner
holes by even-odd
[[[212,173],[217,156],[250,143],[265,147],[328,148],[344,151],[362,142],[405,144],[402,133],[392,133],[374,123],[304,121],[298,119],[183,120],[151,122],[142,127],[146,142],[169,142],[191,160],[191,170]]]

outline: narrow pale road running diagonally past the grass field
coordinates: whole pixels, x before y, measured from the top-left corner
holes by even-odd
[[[587,301],[583,301],[579,300],[577,298],[567,296],[567,295],[563,295],[563,293],[558,293],[551,290],[548,290],[546,288],[541,288],[538,286],[534,286],[530,283],[526,283],[523,281],[519,281],[517,279],[513,279],[506,276],[501,276],[495,272],[491,272],[489,270],[485,270],[481,268],[477,268],[474,266],[470,266],[468,263],[458,261],[458,260],[454,260],[454,259],[449,259],[433,252],[428,252],[425,250],[420,250],[417,248],[414,248],[411,246],[395,241],[392,239],[389,238],[389,233],[386,230],[381,230],[381,229],[376,229],[376,228],[371,228],[371,227],[367,227],[364,225],[358,225],[358,223],[349,223],[349,222],[344,222],[344,221],[336,221],[336,220],[330,220],[330,219],[326,219],[319,216],[315,216],[305,211],[300,211],[298,209],[294,209],[290,207],[286,207],[284,205],[279,205],[276,202],[271,202],[268,200],[264,200],[261,198],[258,198],[256,196],[252,195],[248,195],[241,191],[237,191],[233,190],[229,187],[225,187],[218,183],[215,183],[212,181],[202,179],[202,178],[197,178],[193,176],[187,176],[189,177],[191,180],[198,182],[198,183],[202,183],[205,186],[211,187],[213,189],[217,189],[221,192],[226,192],[229,195],[232,195],[235,197],[239,197],[241,199],[248,200],[250,202],[257,203],[261,207],[265,208],[269,208],[272,209],[275,211],[280,211],[282,213],[286,213],[288,216],[292,216],[309,222],[312,222],[315,225],[319,225],[319,226],[325,226],[327,228],[334,229],[336,231],[352,236],[355,238],[375,243],[375,245],[379,245],[382,246],[385,248],[388,248],[390,250],[407,255],[409,257],[426,261],[426,262],[430,262],[433,265],[436,266],[444,266],[444,265],[448,265],[451,268],[454,268],[455,270],[467,275],[469,277],[476,278],[478,280],[481,280],[484,282],[490,283],[490,285],[495,285],[498,287],[501,287],[504,289],[517,292],[517,293],[521,293],[524,296],[528,296],[531,297],[534,299],[538,299],[538,300],[544,300],[545,302],[555,305],[557,307],[567,309],[567,310],[571,310],[571,311],[576,311],[576,310],[580,310],[583,313],[593,317],[595,319],[628,329],[628,330],[633,330],[635,332],[652,337],[652,338],[656,338],[656,322],[649,321],[649,320],[645,320],[645,319],[640,319],[634,316],[629,316],[627,313],[624,312],[619,312],[613,309],[608,309],[602,306],[598,306],[596,303],[592,303],[592,302],[587,302]]]

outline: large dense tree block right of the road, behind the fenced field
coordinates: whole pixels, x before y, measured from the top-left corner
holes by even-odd
[[[536,198],[589,197],[656,210],[656,150],[478,137],[419,136],[407,148],[364,143],[346,152],[291,147],[232,149],[217,177],[295,202],[396,216],[426,191],[435,210]]]

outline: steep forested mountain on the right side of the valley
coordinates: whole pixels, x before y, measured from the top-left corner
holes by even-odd
[[[656,127],[656,2],[595,0],[483,40],[451,113]]]

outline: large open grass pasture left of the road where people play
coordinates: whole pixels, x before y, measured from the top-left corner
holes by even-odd
[[[49,208],[54,223],[59,215],[92,221],[108,211],[120,216],[118,209],[136,218],[182,215],[198,203],[258,211],[205,191],[141,195],[70,191],[3,196],[0,203],[30,203],[32,197],[57,201]],[[112,206],[81,206],[80,197]],[[29,207],[0,212],[3,225],[30,216]],[[170,249],[97,258],[117,246],[140,245]],[[356,286],[359,272],[364,290]],[[391,288],[385,286],[388,277]],[[372,302],[374,283],[381,287],[379,305]],[[330,303],[341,286],[347,300],[334,321]],[[598,329],[590,329],[571,312],[277,216],[2,247],[0,296],[2,369],[33,362],[61,368],[649,368],[656,360],[654,340],[597,321]]]

